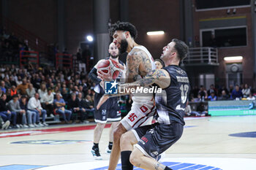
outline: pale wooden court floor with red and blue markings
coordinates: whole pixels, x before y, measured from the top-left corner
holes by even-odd
[[[94,125],[0,131],[0,170],[106,169],[110,125],[99,142],[102,161],[90,152]],[[183,136],[163,161],[172,169],[256,170],[256,116],[186,118]]]

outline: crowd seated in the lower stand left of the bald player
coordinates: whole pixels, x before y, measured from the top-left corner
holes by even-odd
[[[45,117],[55,115],[64,123],[88,123],[93,88],[85,72],[0,66],[0,115],[12,128],[45,126]]]

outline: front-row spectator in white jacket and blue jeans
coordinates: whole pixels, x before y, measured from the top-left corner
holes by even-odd
[[[36,120],[37,125],[39,126],[48,125],[47,123],[45,123],[46,111],[41,107],[41,104],[39,101],[39,93],[35,93],[34,97],[31,97],[29,99],[28,109],[31,110],[32,112],[37,112],[37,120]],[[42,115],[42,123],[40,123],[40,120],[39,120],[40,115]]]

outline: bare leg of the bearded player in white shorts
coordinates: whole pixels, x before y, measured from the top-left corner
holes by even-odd
[[[118,159],[120,156],[120,138],[121,138],[121,135],[124,134],[125,132],[127,132],[127,129],[124,128],[124,125],[122,125],[121,123],[118,123],[118,126],[113,133],[113,148],[110,155],[110,161],[108,166],[108,169],[110,170],[116,169]]]

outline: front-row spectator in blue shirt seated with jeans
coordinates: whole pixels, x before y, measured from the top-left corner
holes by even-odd
[[[69,120],[72,115],[72,111],[65,109],[66,103],[63,98],[61,98],[60,93],[56,93],[56,99],[53,101],[54,106],[56,107],[55,112],[59,115],[62,115],[65,123],[69,123]],[[67,118],[66,118],[67,114]]]

